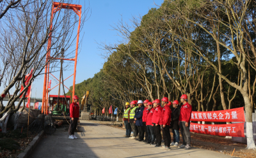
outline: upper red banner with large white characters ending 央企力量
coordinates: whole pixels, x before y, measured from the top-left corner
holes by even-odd
[[[245,122],[244,107],[219,111],[192,111],[191,121]]]

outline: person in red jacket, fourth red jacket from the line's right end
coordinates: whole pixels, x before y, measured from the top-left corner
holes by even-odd
[[[147,125],[147,131],[148,131],[148,142],[146,141],[145,143],[150,143],[150,145],[154,145],[155,134],[152,126],[152,116],[155,109],[153,108],[153,104],[151,102],[148,102],[147,104],[148,104],[148,110],[147,110],[146,125]]]

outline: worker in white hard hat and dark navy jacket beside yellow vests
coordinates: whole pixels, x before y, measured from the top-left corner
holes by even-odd
[[[142,123],[143,111],[144,111],[143,101],[139,100],[138,108],[137,108],[136,114],[134,116],[134,120],[136,121],[135,125],[138,127],[138,131],[139,131],[138,141],[144,140],[145,131],[143,128],[143,123]]]

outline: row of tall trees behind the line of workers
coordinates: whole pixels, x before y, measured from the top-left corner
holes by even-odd
[[[132,25],[121,20],[113,28],[124,41],[100,44],[108,60],[77,85],[79,95],[91,90],[95,110],[114,101],[122,110],[134,99],[173,101],[181,94],[197,111],[244,106],[248,148],[255,148],[255,5],[251,0],[166,0],[134,17]]]

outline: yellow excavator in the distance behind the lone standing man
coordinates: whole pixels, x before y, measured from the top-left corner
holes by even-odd
[[[91,113],[91,107],[88,104],[88,98],[89,98],[89,90],[86,91],[86,94],[82,97],[80,110],[81,110],[81,119],[82,120],[89,120],[90,119],[90,113]]]

